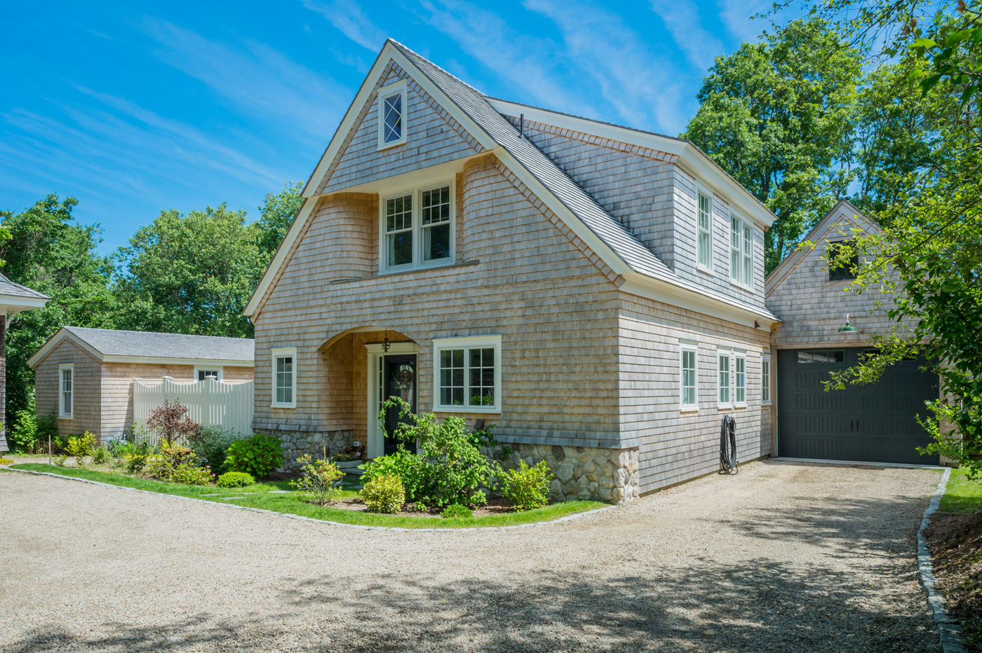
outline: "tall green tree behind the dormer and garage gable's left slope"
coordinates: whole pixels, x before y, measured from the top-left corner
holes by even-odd
[[[691,140],[776,216],[766,271],[846,194],[862,57],[824,21],[797,21],[717,58]]]

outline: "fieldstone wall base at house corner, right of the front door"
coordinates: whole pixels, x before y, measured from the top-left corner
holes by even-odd
[[[549,444],[509,444],[514,450],[501,466],[518,467],[518,461],[529,466],[544,460],[556,475],[549,490],[552,499],[607,501],[627,505],[640,494],[637,447],[599,449],[562,447]]]

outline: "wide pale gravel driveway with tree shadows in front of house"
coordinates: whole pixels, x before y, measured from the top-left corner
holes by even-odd
[[[0,651],[939,651],[929,470],[764,462],[571,523],[331,527],[0,474]]]

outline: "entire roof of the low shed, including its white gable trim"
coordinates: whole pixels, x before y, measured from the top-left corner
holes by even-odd
[[[36,367],[66,338],[106,363],[211,363],[251,367],[255,351],[251,338],[62,326],[30,357],[27,365]]]

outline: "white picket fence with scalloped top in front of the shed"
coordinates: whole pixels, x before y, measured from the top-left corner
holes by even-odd
[[[252,381],[225,383],[214,378],[177,383],[164,377],[162,383],[146,385],[138,378],[133,382],[133,411],[137,424],[145,427],[150,411],[164,401],[188,407],[188,417],[203,427],[252,432]]]

